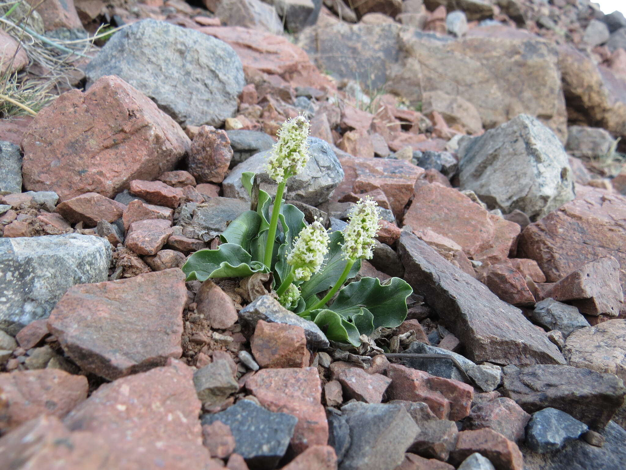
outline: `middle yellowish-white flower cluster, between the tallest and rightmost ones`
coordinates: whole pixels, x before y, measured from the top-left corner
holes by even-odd
[[[294,267],[296,281],[308,281],[317,273],[328,253],[329,236],[324,226],[315,221],[300,230],[294,241],[294,249],[287,256],[287,264]]]

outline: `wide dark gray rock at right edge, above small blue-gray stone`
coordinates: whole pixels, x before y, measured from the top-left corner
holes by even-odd
[[[552,407],[581,420],[593,430],[606,426],[626,395],[621,379],[612,373],[568,365],[530,365],[503,368],[501,393],[527,413]]]

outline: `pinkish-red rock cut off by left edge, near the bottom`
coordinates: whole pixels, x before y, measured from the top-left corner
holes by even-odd
[[[0,402],[8,402],[0,413],[0,432],[43,414],[63,418],[87,398],[87,390],[85,376],[59,369],[0,373]]]

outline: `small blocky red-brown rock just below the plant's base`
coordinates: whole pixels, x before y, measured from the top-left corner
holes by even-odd
[[[307,367],[310,353],[304,328],[284,323],[257,322],[250,348],[260,367]]]

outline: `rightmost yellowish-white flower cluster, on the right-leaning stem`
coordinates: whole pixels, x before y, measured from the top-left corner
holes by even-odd
[[[344,259],[356,261],[359,258],[371,259],[374,250],[374,237],[379,229],[379,209],[376,201],[367,196],[359,199],[352,208],[347,227],[344,229],[342,246]]]

